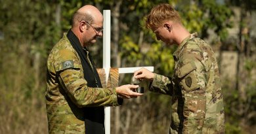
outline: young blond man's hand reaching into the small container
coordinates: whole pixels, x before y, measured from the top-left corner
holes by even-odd
[[[144,67],[142,67],[138,71],[135,71],[133,76],[139,80],[146,78],[146,79],[152,81],[154,78],[154,73],[152,73],[148,69],[145,69]]]

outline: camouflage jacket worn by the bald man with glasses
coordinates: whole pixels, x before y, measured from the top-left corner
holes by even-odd
[[[83,133],[83,107],[117,106],[116,89],[87,87],[81,60],[66,37],[54,46],[47,60],[45,93],[49,133]]]

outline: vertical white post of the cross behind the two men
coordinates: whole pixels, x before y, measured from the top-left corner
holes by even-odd
[[[103,10],[103,68],[106,72],[106,82],[110,70],[110,10]],[[105,107],[105,134],[110,134],[110,107]]]

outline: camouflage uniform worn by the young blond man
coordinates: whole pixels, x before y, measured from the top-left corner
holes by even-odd
[[[155,75],[151,89],[172,95],[169,133],[224,133],[223,95],[211,47],[192,34],[173,54],[172,78]]]

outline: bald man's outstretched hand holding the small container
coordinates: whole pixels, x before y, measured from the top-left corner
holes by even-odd
[[[134,98],[143,95],[143,93],[135,92],[135,89],[139,88],[138,85],[123,85],[116,88],[116,93],[119,97],[123,99]]]

